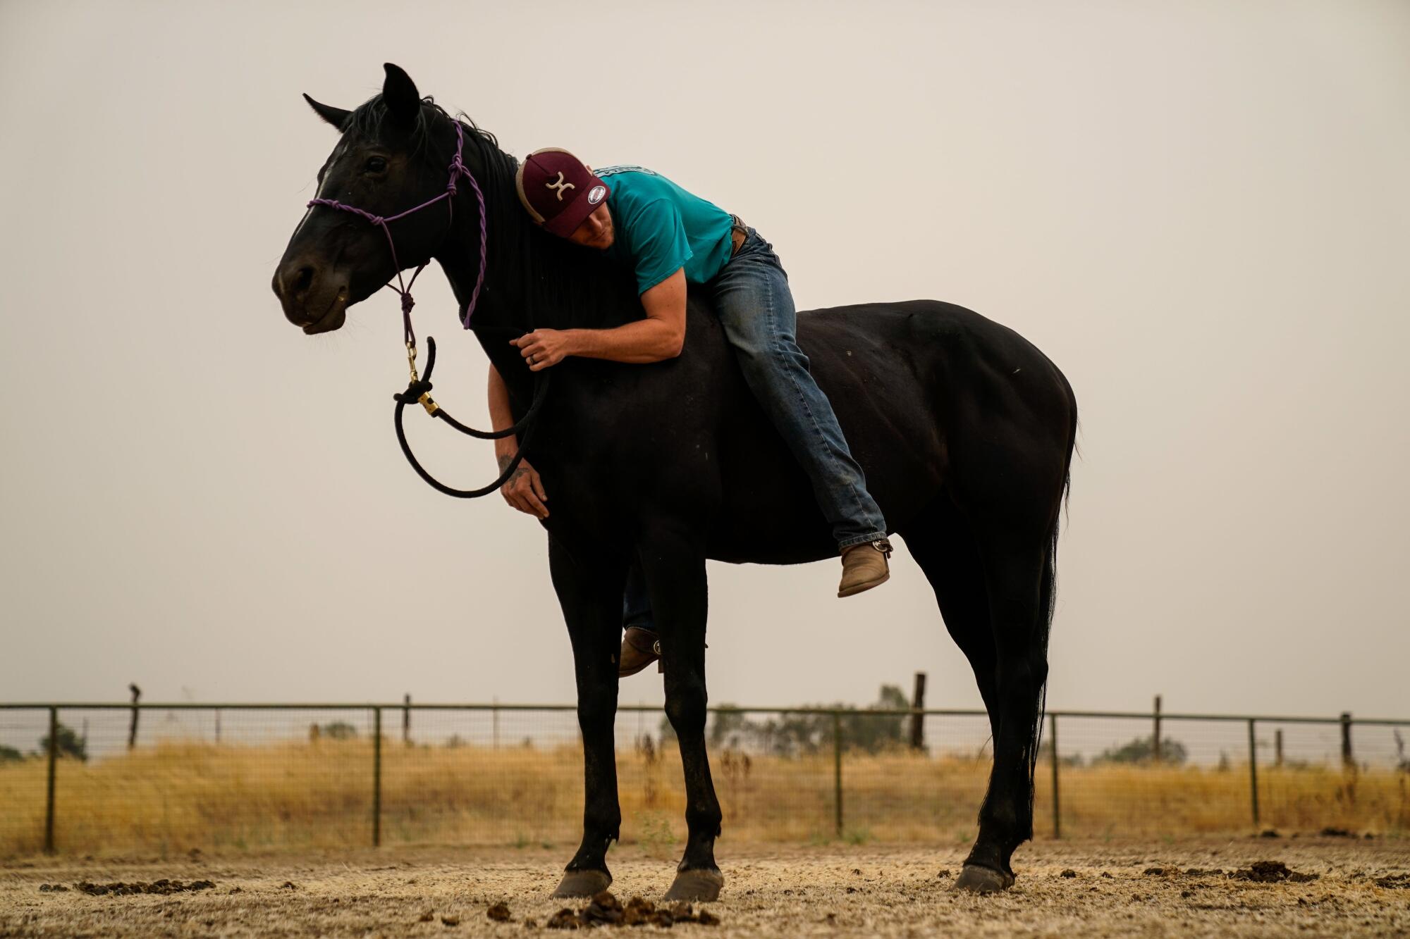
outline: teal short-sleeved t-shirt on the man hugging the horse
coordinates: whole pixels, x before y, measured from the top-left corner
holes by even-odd
[[[608,257],[636,271],[637,293],[681,268],[691,283],[705,283],[729,261],[733,220],[719,206],[642,166],[592,172],[612,190],[608,209],[616,235]]]

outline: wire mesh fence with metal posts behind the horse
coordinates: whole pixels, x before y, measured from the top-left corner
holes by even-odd
[[[1410,720],[1049,712],[1035,835],[1410,830]],[[979,711],[712,709],[725,833],[955,842],[993,756]],[[660,709],[618,713],[622,837],[682,842]],[[0,705],[0,854],[571,845],[571,706]]]

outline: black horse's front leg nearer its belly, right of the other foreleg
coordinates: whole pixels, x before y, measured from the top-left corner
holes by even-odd
[[[719,799],[705,751],[705,548],[697,537],[654,532],[640,548],[666,668],[666,715],[685,770],[685,854],[667,900],[715,900],[725,877],[715,864]]]

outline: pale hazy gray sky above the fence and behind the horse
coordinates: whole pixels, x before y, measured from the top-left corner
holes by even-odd
[[[804,309],[938,297],[1052,357],[1050,705],[1410,713],[1410,6],[1349,0],[0,3],[0,699],[572,699],[539,526],[396,448],[395,297],[310,338],[269,292],[336,137],[299,93],[384,61],[739,213]],[[439,271],[417,300],[484,413]],[[712,701],[977,705],[894,571],[712,564]]]

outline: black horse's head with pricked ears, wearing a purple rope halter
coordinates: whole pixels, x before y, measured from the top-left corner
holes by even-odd
[[[434,145],[440,111],[423,106],[410,76],[388,63],[382,93],[355,111],[309,106],[343,137],[319,171],[319,197],[391,217],[446,192],[448,154]],[[454,142],[454,141],[451,141]],[[396,266],[415,268],[430,259],[447,231],[448,207],[437,203],[389,223],[396,262],[386,234],[351,211],[312,206],[293,230],[274,274],[274,292],[283,314],[305,333],[343,326],[345,310],[396,276]]]

